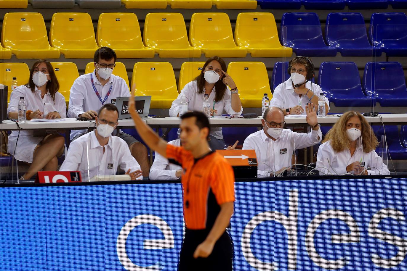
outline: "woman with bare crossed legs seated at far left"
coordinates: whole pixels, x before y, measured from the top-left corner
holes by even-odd
[[[10,118],[18,118],[18,102],[24,97],[26,116],[29,119],[66,118],[65,98],[58,92],[59,83],[54,69],[48,61],[40,59],[31,68],[27,85],[19,86],[11,92],[7,113]],[[20,135],[19,135],[20,133]],[[11,132],[7,151],[14,158],[30,164],[21,177],[30,179],[38,171],[56,171],[57,157],[64,151],[65,138],[56,131],[21,130]]]

